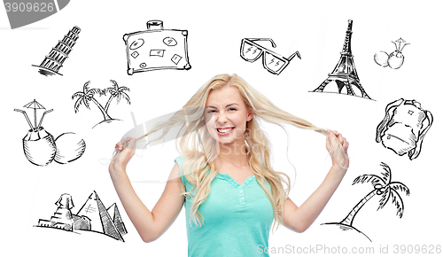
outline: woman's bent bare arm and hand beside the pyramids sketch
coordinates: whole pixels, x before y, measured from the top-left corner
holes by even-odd
[[[140,237],[148,243],[159,238],[169,228],[183,207],[184,196],[180,190],[182,182],[179,176],[179,167],[175,163],[165,191],[151,212],[136,195],[126,174],[128,161],[136,151],[136,140],[127,138],[126,142],[128,147],[123,147],[120,143],[116,144],[117,154],[109,165],[109,173],[129,219],[136,227]]]

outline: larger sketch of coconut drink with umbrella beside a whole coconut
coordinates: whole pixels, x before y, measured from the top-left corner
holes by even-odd
[[[27,124],[31,128],[22,140],[23,152],[25,152],[27,160],[37,166],[46,166],[52,160],[60,164],[66,164],[82,157],[86,149],[86,144],[82,138],[79,138],[75,133],[67,132],[54,139],[54,136],[42,127],[44,115],[51,113],[53,109],[44,111],[37,125],[37,110],[45,110],[46,108],[35,99],[23,107],[34,110],[33,126],[25,111],[14,109],[16,112],[23,113],[27,119]]]

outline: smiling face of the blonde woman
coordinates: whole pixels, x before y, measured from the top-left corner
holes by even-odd
[[[236,88],[225,86],[212,90],[206,100],[205,112],[206,128],[217,142],[245,144],[246,121],[253,119],[253,113]]]

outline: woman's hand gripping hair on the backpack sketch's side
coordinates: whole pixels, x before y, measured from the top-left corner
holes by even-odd
[[[340,144],[341,147],[338,144]],[[326,149],[330,152],[333,167],[340,167],[341,169],[347,169],[347,167],[349,167],[349,157],[347,156],[348,147],[349,142],[347,142],[345,136],[342,136],[336,130],[328,129]],[[343,148],[343,151],[341,148]]]

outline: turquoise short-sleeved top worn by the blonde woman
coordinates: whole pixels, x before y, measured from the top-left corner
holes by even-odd
[[[182,167],[184,159],[175,162]],[[186,191],[194,188],[181,171]],[[268,190],[271,191],[267,183]],[[194,192],[192,192],[195,195]],[[217,174],[211,192],[199,207],[205,218],[201,227],[190,223],[193,198],[185,198],[188,256],[268,256],[269,231],[274,221],[272,204],[255,179],[255,175],[237,183],[227,174]]]

